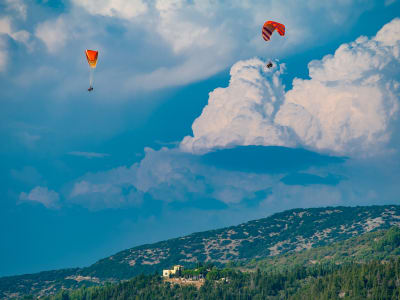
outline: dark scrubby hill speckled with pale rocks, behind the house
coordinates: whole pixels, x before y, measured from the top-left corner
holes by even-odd
[[[178,263],[248,261],[319,247],[393,225],[400,226],[400,206],[294,209],[238,226],[134,247],[87,268],[3,277],[0,295],[101,284],[159,272]]]

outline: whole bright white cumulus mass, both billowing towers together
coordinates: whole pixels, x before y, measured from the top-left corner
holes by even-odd
[[[284,92],[281,69],[258,59],[231,69],[227,88],[210,93],[181,148],[206,152],[236,145],[301,145],[368,156],[385,148],[398,111],[400,19],[377,35],[340,46],[309,64],[309,80]]]

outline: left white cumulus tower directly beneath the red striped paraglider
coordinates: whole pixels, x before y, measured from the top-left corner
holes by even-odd
[[[210,93],[208,105],[193,125],[194,137],[181,148],[191,152],[235,145],[294,145],[283,127],[274,124],[282,102],[282,68],[266,68],[259,59],[236,63],[227,88]]]

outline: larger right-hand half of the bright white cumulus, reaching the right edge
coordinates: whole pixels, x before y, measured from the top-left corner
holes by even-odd
[[[310,80],[296,79],[275,121],[304,145],[340,154],[369,155],[388,142],[398,111],[400,19],[376,37],[340,46],[309,64]]]

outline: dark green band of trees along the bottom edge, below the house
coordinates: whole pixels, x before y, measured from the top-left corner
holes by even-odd
[[[285,272],[240,272],[214,267],[199,289],[163,282],[158,275],[140,275],[119,284],[64,290],[44,299],[400,299],[400,258],[366,264],[296,267]]]

